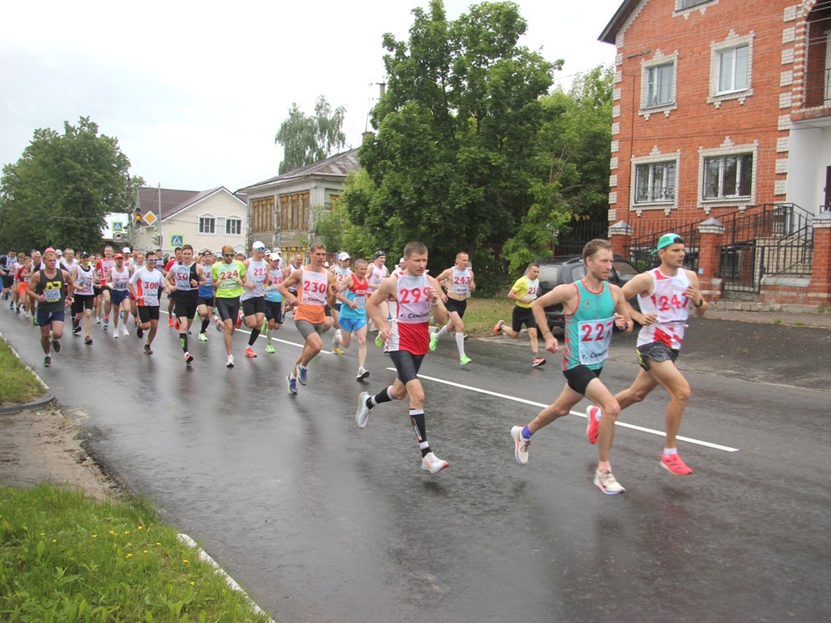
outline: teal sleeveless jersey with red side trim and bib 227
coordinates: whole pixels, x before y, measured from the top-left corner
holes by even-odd
[[[577,288],[577,308],[566,314],[563,370],[585,365],[589,370],[602,368],[609,354],[615,323],[615,299],[612,288],[603,282],[600,292],[592,292],[583,280]]]

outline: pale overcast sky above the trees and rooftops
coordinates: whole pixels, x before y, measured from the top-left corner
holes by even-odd
[[[448,17],[472,3],[445,0]],[[520,44],[565,60],[555,84],[614,60],[597,37],[621,0],[517,3]],[[36,128],[89,116],[148,184],[234,191],[277,174],[275,133],[293,102],[311,114],[318,95],[347,108],[347,147],[360,145],[384,78],[381,37],[406,40],[417,6],[428,2],[7,2],[0,164]]]

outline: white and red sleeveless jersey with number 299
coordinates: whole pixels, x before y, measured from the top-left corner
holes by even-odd
[[[398,310],[391,323],[390,351],[408,351],[425,355],[430,344],[430,279],[426,274],[411,277],[401,273],[396,278]]]

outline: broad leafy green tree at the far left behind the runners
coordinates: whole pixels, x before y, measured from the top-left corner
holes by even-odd
[[[35,130],[32,142],[0,179],[0,248],[71,245],[101,248],[105,215],[129,212],[130,160],[116,138],[99,135],[81,117],[64,122],[63,134]]]

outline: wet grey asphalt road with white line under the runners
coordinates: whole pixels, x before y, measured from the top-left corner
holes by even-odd
[[[280,621],[831,619],[831,331],[691,321],[679,449],[696,473],[658,464],[655,392],[622,414],[612,464],[627,493],[605,496],[583,417],[535,435],[527,466],[514,459],[510,427],[563,386],[555,357],[533,370],[521,344],[469,341],[474,362],[460,368],[442,341],[421,372],[428,436],[450,468],[430,476],[406,405],[380,405],[356,429],[355,346],[318,357],[287,394],[292,324],[255,360],[238,333],[233,370],[214,329],[194,336],[186,370],[166,325],[153,356],[96,328],[93,346],[66,336],[45,369],[37,330],[0,309],[0,331],[96,457]],[[637,373],[633,339],[615,338],[612,390]],[[370,349],[376,392],[393,373]]]

